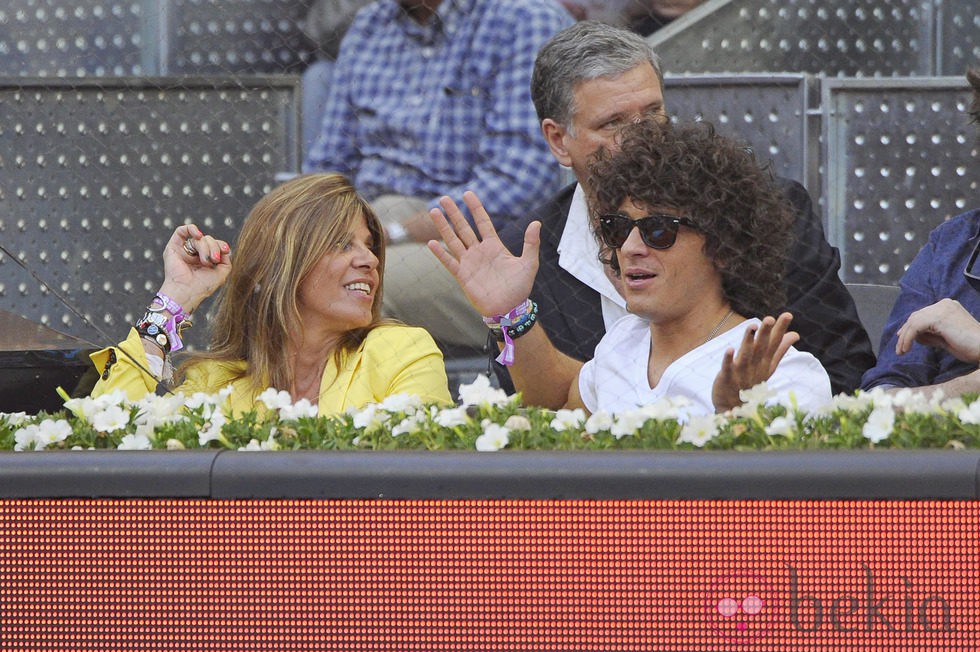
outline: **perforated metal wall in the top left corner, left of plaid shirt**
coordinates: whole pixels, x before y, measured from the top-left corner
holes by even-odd
[[[4,0],[0,75],[298,71],[312,0]]]

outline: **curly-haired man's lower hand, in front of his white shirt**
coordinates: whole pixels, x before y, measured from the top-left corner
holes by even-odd
[[[784,312],[778,319],[766,317],[758,326],[745,329],[745,336],[738,348],[725,351],[721,371],[711,388],[711,399],[717,412],[724,412],[742,404],[739,392],[751,389],[768,380],[776,371],[791,346],[800,335],[789,330],[793,315]]]

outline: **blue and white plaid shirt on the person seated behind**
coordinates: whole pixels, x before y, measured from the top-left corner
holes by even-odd
[[[368,199],[430,206],[473,190],[499,228],[558,189],[531,70],[573,22],[553,0],[443,0],[425,25],[395,0],[369,5],[341,44],[304,171],[342,172]]]

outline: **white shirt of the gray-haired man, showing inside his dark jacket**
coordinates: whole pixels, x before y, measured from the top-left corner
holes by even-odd
[[[599,293],[602,321],[607,331],[627,314],[626,299],[616,290],[606,276],[605,266],[599,262],[599,243],[589,227],[589,208],[581,185],[575,187],[558,243],[558,266]]]

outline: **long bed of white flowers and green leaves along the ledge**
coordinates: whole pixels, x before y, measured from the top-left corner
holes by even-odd
[[[460,388],[460,405],[422,405],[409,396],[332,417],[269,389],[259,409],[229,415],[228,393],[122,394],[68,399],[55,414],[0,413],[0,450],[809,450],[966,448],[980,444],[980,401],[912,390],[839,395],[803,413],[774,402],[765,384],[720,415],[689,416],[683,400],[616,415],[523,408],[480,376]]]

